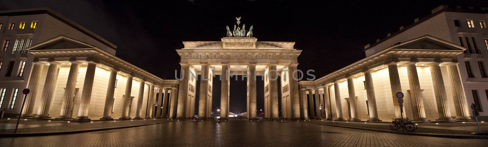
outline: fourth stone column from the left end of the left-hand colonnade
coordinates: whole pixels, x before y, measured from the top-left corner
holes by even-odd
[[[90,105],[91,92],[93,90],[93,80],[95,78],[95,69],[97,68],[97,63],[88,61],[88,66],[86,67],[85,80],[83,82],[83,91],[81,92],[80,109],[78,111],[78,117],[73,121],[90,121],[88,118],[88,106]]]

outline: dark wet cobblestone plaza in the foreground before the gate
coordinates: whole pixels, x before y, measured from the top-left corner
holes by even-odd
[[[487,146],[486,139],[453,139],[345,129],[304,122],[175,121],[128,129],[39,137],[1,138],[2,146]]]

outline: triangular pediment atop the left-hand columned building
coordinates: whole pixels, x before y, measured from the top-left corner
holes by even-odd
[[[55,37],[41,42],[29,49],[29,51],[39,50],[63,50],[63,49],[87,49],[93,48],[87,44],[68,37]]]

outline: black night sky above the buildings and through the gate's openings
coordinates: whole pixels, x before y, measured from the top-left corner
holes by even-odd
[[[115,44],[118,57],[163,79],[174,79],[175,70],[180,70],[175,49],[183,48],[182,41],[220,41],[225,25],[234,25],[239,16],[241,24],[254,25],[258,41],[296,42],[295,48],[303,50],[298,69],[315,70],[321,77],[364,58],[366,44],[426,17],[441,4],[488,6],[486,0],[208,1],[1,0],[0,10],[50,7]],[[216,109],[220,81],[213,82]],[[257,83],[259,110],[264,109],[263,82]],[[245,80],[231,83],[231,112],[245,111],[245,87]]]

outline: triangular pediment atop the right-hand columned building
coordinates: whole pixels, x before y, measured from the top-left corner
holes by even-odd
[[[424,37],[412,39],[405,43],[401,43],[396,46],[393,46],[392,49],[453,50],[453,51],[465,50],[465,48],[461,46],[431,36],[424,36]]]

